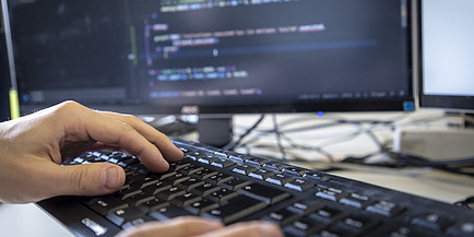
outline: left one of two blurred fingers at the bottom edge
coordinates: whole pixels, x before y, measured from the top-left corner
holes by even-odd
[[[122,230],[116,237],[188,237],[223,228],[218,222],[202,217],[177,217],[166,222],[149,222]]]

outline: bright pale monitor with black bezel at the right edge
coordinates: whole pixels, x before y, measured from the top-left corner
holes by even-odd
[[[474,1],[418,5],[419,105],[474,111]]]

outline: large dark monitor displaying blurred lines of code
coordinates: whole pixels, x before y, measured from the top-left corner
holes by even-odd
[[[410,0],[3,0],[23,112],[411,110]]]

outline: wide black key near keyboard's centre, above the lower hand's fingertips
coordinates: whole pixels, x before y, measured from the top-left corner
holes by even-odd
[[[237,190],[237,192],[264,201],[268,204],[274,204],[291,197],[291,194],[285,191],[260,183],[248,185]]]

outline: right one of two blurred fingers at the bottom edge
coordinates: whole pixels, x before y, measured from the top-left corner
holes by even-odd
[[[200,237],[284,237],[282,229],[270,222],[248,222],[210,232]]]

